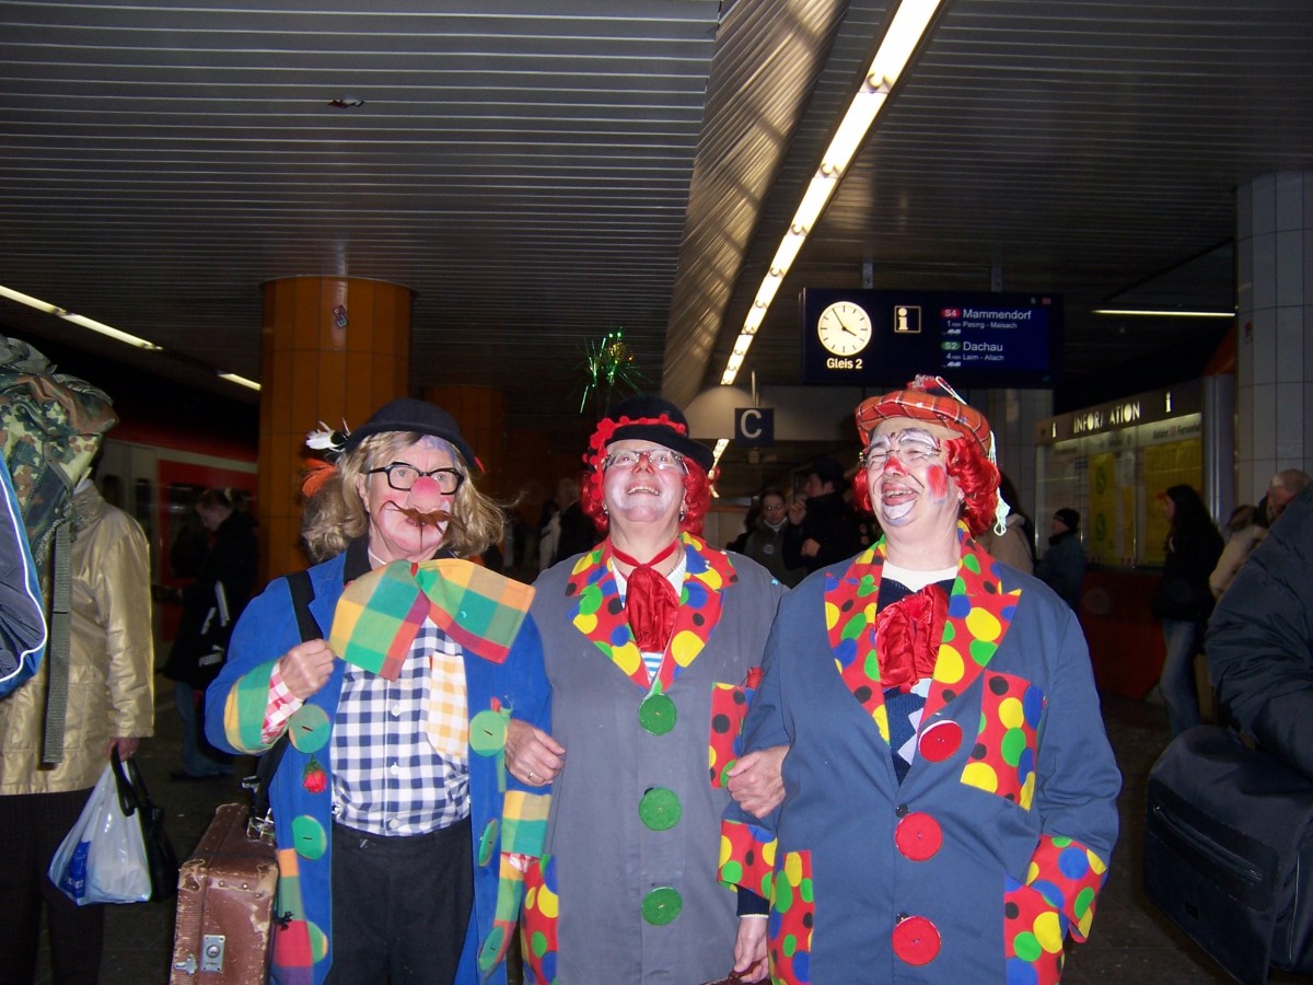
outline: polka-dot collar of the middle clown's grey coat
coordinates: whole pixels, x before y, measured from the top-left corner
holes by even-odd
[[[662,661],[658,680],[667,690],[693,662],[721,617],[725,586],[738,580],[729,556],[713,550],[691,533],[681,533],[688,574],[680,592],[675,632]],[[575,600],[570,612],[574,625],[588,637],[607,659],[645,691],[651,687],[642,654],[625,617],[620,588],[611,570],[611,540],[603,541],[575,563],[566,584],[566,596]]]

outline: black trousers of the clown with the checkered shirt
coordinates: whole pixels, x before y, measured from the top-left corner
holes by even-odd
[[[449,985],[473,904],[469,818],[411,838],[335,825],[326,985]]]

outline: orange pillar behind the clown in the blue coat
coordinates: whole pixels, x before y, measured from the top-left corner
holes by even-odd
[[[358,277],[264,285],[260,557],[265,578],[306,566],[301,452],[319,422],[362,424],[410,390],[410,288]]]

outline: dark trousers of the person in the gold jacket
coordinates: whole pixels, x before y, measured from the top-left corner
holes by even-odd
[[[50,932],[55,985],[96,985],[105,942],[105,908],[79,906],[46,871],[87,806],[91,789],[0,796],[0,982],[37,976],[41,914]]]

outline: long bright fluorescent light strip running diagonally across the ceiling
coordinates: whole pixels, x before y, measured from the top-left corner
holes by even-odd
[[[934,20],[939,4],[940,0],[902,0],[898,5],[898,12],[876,50],[876,56],[865,72],[861,87],[848,104],[830,146],[821,155],[821,165],[807,184],[807,190],[798,204],[789,231],[780,240],[780,248],[776,251],[775,259],[771,260],[765,277],[762,278],[762,286],[756,292],[752,307],[747,318],[743,319],[743,330],[725,364],[725,372],[721,374],[722,383],[733,383],[738,377],[743,359],[747,356],[756,330],[760,328],[762,320],[765,318],[765,310],[775,301],[775,294],[780,289],[784,276],[789,272],[817,219],[821,218],[821,213],[825,211],[839,186],[839,179],[852,162],[852,156],[857,152],[861,142],[867,139],[872,123],[889,98],[889,91],[898,81],[907,62],[911,60],[911,55]],[[723,444],[727,443],[717,445],[717,461],[720,461]]]

